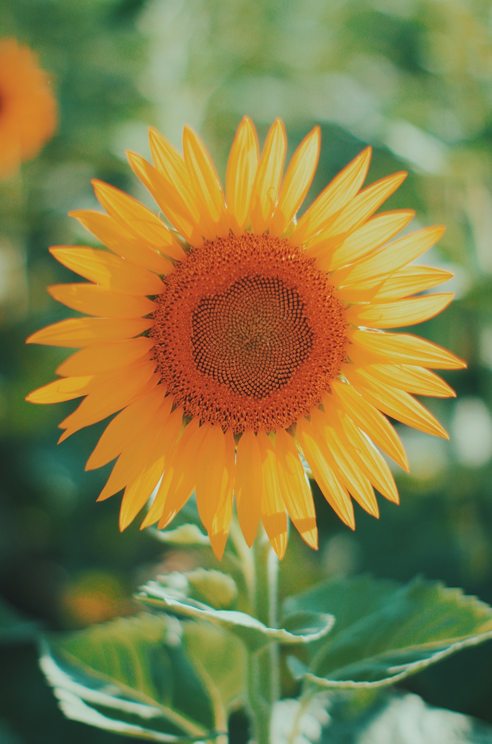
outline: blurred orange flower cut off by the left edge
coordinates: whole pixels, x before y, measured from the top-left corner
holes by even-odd
[[[0,176],[10,176],[54,134],[57,104],[36,55],[0,39]]]

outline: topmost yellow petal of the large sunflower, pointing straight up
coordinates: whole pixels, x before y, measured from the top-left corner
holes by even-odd
[[[232,231],[240,233],[249,214],[253,184],[258,169],[258,137],[245,116],[232,143],[226,174],[226,202]]]

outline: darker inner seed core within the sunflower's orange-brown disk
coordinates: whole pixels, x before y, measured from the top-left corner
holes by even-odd
[[[278,277],[243,277],[203,298],[191,325],[198,371],[258,400],[287,385],[313,341],[303,301]]]

